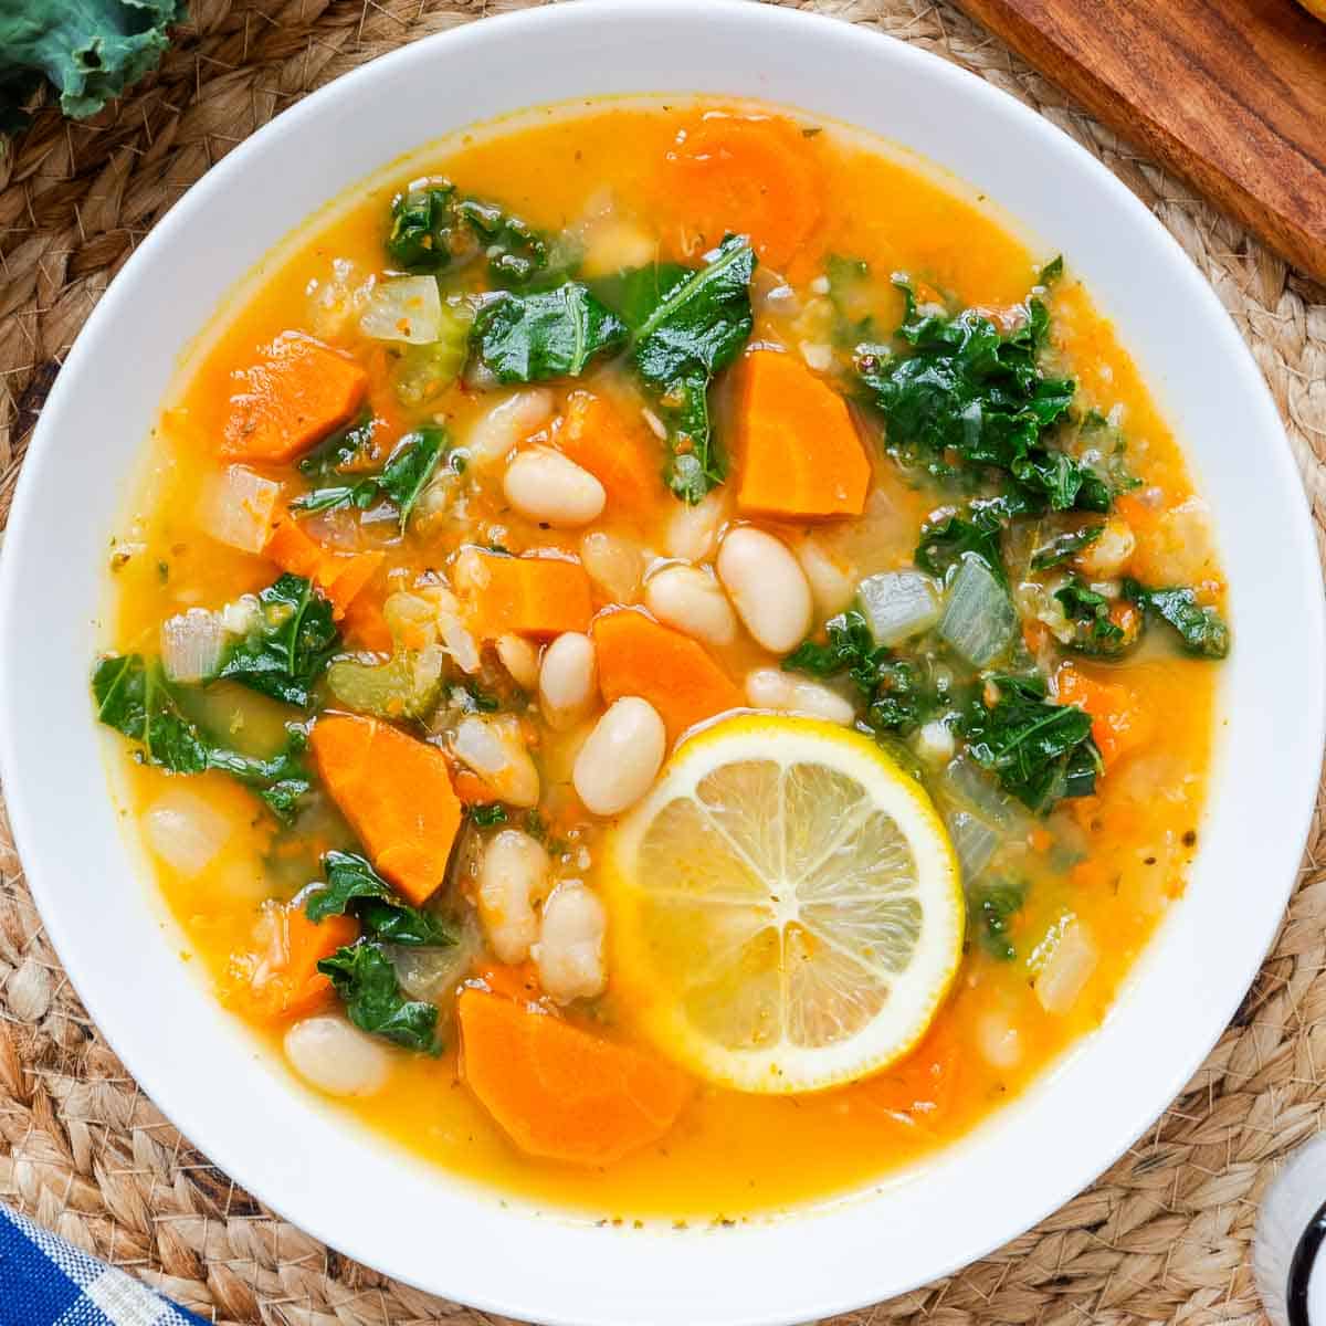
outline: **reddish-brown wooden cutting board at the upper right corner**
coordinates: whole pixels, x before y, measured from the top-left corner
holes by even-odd
[[[1326,23],[1296,0],[957,0],[1326,281]]]

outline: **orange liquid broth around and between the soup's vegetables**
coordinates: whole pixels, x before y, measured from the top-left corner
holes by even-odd
[[[358,333],[353,317],[333,328],[332,318],[320,320],[316,312],[333,260],[349,261],[362,273],[383,269],[390,199],[407,178],[424,174],[424,168],[444,172],[461,192],[497,199],[545,232],[581,225],[590,236],[590,252],[610,229],[594,217],[609,215],[613,224],[648,235],[659,257],[695,263],[721,239],[712,231],[696,232],[692,217],[697,211],[716,208],[715,224],[740,225],[743,210],[762,206],[758,199],[756,204],[743,200],[739,190],[731,206],[741,215],[725,220],[721,210],[727,204],[713,204],[708,195],[696,199],[695,190],[704,194],[708,186],[703,179],[696,184],[670,154],[678,151],[679,131],[693,134],[699,125],[693,109],[650,105],[532,117],[491,135],[460,139],[423,166],[412,162],[408,170],[394,171],[390,180],[357,194],[330,221],[312,223],[298,247],[268,265],[252,293],[227,313],[204,350],[188,362],[178,398],[162,414],[149,477],[117,545],[107,644],[154,652],[163,618],[190,606],[219,606],[273,579],[274,570],[264,557],[225,548],[203,533],[194,508],[195,493],[217,465],[217,439],[231,408],[233,374],[281,333],[301,330],[355,355],[370,375],[369,403],[389,447],[420,418],[434,415],[446,416],[452,435],[463,438],[487,407],[483,394],[460,387],[427,408],[403,407],[392,391],[382,347]],[[802,341],[827,339],[826,301],[815,300],[812,282],[830,255],[859,255],[878,273],[912,273],[956,306],[996,313],[1016,306],[1038,265],[1053,256],[1030,253],[987,207],[914,163],[831,126],[806,127],[819,130],[797,135],[798,150],[806,154],[818,182],[818,207],[805,241],[796,244],[793,253],[778,255],[785,264],[780,274],[797,290],[801,312],[789,318],[776,301],[757,301],[752,342],[794,350]],[[789,243],[778,235],[768,252]],[[611,241],[605,244],[610,261]],[[1048,296],[1052,351],[1077,377],[1083,403],[1122,411],[1128,463],[1148,491],[1160,493],[1151,507],[1136,497],[1123,504],[1130,518],[1135,517],[1136,557],[1163,568],[1175,540],[1168,513],[1184,504],[1184,509],[1197,509],[1191,480],[1138,369],[1074,280],[1071,255],[1069,264]],[[760,269],[760,281],[772,280],[768,271]],[[883,281],[878,298],[884,324],[895,325],[900,297]],[[627,399],[631,391],[625,370],[602,362],[581,381],[548,386],[560,404],[572,390],[585,387]],[[720,439],[731,419],[731,383],[720,379],[713,398]],[[857,574],[911,565],[918,526],[927,512],[943,504],[934,492],[904,483],[878,448],[870,452],[873,485],[884,495],[886,517],[873,524],[869,517],[866,524],[829,522],[815,530],[825,546],[851,561]],[[735,457],[736,472],[740,463],[741,457]],[[736,473],[728,487],[735,481]],[[675,499],[659,485],[656,501],[644,509],[621,512],[609,503],[591,528],[659,549],[675,509]],[[797,524],[757,524],[790,542],[806,533]],[[347,524],[329,518],[326,528],[343,537]],[[522,521],[504,509],[500,487],[489,485],[472,496],[464,529],[444,520],[435,529],[430,526],[426,537],[389,546],[383,569],[363,593],[381,603],[391,589],[442,566],[461,541],[499,542],[516,552],[556,548],[574,557],[581,534]],[[1208,602],[1220,601],[1223,586],[1213,566],[1204,568],[1201,585]],[[605,603],[595,589],[595,607]],[[353,615],[347,619],[351,629],[354,621]],[[770,662],[744,633],[737,644],[713,652],[739,683],[748,667]],[[1168,903],[1183,891],[1196,851],[1219,668],[1150,640],[1124,663],[1078,659],[1075,667],[1087,678],[1124,682],[1150,736],[1111,764],[1095,796],[1061,804],[1055,833],[1075,835],[1083,859],[1069,869],[1052,869],[1045,843],[1037,839],[1030,845],[1034,887],[1009,932],[1018,957],[1001,961],[969,944],[951,996],[920,1050],[903,1063],[812,1095],[760,1097],[700,1086],[659,1143],[606,1168],[521,1155],[460,1079],[451,1028],[439,1058],[392,1050],[387,1086],[341,1107],[448,1172],[594,1217],[693,1220],[776,1212],[859,1189],[955,1142],[1014,1099],[1101,1022]],[[211,688],[206,704],[208,715],[227,723],[229,731],[243,727],[244,740],[256,748],[273,745],[282,719],[289,717],[274,701],[228,683]],[[529,727],[538,741],[545,785],[541,813],[550,833],[564,839],[568,857],[585,849],[593,858],[598,827],[586,823],[570,788],[572,739],[542,729],[534,720]],[[127,760],[125,778],[127,802],[135,812],[186,781]],[[252,943],[263,899],[289,898],[305,880],[285,879],[273,870],[269,854],[284,850],[285,838],[251,793],[220,773],[187,782],[228,817],[233,834],[196,878],[186,878],[164,862],[156,863],[155,876],[207,977],[244,1016],[244,1001],[233,998],[228,976],[231,955]],[[328,843],[345,841],[334,817],[326,819],[324,830],[316,825],[309,830],[318,831]],[[1049,838],[1045,830],[1033,830],[1032,838],[1037,834]],[[585,878],[593,883],[593,865]],[[1099,960],[1071,1009],[1055,1016],[1036,997],[1030,963],[1034,945],[1066,912],[1095,936]],[[333,1004],[330,997],[328,1004]],[[609,1037],[631,1034],[630,1008],[614,996],[611,979],[607,994],[591,1010],[573,1008],[568,1016]],[[285,1022],[252,1016],[249,1021],[271,1052],[280,1054]]]

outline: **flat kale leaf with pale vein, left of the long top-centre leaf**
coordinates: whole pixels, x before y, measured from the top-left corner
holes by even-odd
[[[500,294],[475,320],[473,342],[499,382],[578,378],[594,355],[626,343],[626,324],[579,281]]]

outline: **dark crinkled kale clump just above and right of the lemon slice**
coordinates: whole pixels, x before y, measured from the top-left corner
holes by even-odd
[[[991,678],[961,731],[972,758],[1032,810],[1046,812],[1062,797],[1095,790],[1101,754],[1091,740],[1091,716],[1048,700],[1038,676]]]

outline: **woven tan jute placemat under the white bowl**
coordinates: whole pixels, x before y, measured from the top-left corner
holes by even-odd
[[[160,72],[131,97],[86,123],[40,114],[0,156],[0,524],[33,423],[84,318],[194,180],[337,74],[528,3],[192,0],[192,19]],[[1142,198],[1252,347],[1326,548],[1326,290],[1288,271],[947,4],[813,0],[800,8],[866,24],[975,70],[1071,134]],[[1319,790],[1302,878],[1273,955],[1160,1122],[1037,1229],[949,1280],[839,1323],[1264,1319],[1249,1266],[1257,1203],[1277,1159],[1318,1131],[1326,1102],[1321,812]],[[493,1319],[350,1262],[212,1167],[138,1090],[74,997],[3,813],[0,874],[0,1199],[217,1323]],[[1016,1176],[1016,1158],[1009,1163]]]

